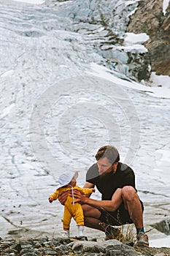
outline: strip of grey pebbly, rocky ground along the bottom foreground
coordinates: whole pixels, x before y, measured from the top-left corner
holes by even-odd
[[[20,238],[19,240],[0,239],[0,256],[50,256],[50,255],[82,255],[83,256],[147,256],[136,252],[132,246],[123,244],[117,240],[85,241],[78,238]],[[164,256],[167,254],[153,253],[152,256]]]

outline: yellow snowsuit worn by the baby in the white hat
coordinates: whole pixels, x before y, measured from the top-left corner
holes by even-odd
[[[77,222],[77,225],[84,225],[84,216],[82,211],[82,206],[80,203],[74,204],[74,194],[73,190],[77,189],[78,191],[82,192],[82,194],[88,195],[93,192],[93,189],[82,189],[81,187],[59,187],[50,197],[53,197],[53,200],[57,200],[58,195],[61,192],[72,190],[72,197],[68,196],[66,202],[64,204],[64,211],[63,211],[63,229],[69,229],[70,222],[72,217]]]

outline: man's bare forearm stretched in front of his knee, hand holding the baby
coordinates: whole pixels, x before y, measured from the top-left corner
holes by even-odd
[[[116,211],[123,201],[121,190],[122,189],[117,189],[115,191],[115,193],[112,195],[112,200],[94,200],[75,192],[74,195],[77,197],[75,203],[88,204],[89,206],[101,208],[106,211]]]

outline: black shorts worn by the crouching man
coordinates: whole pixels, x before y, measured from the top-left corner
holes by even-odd
[[[144,206],[142,201],[141,201],[141,205],[142,205],[142,211],[144,211]],[[104,210],[100,210],[100,211],[101,211],[101,216],[99,220],[109,225],[120,226],[120,225],[133,223],[133,221],[131,220],[131,217],[128,214],[128,210],[125,209],[123,203],[120,205],[119,208],[117,208],[116,211],[104,211]]]

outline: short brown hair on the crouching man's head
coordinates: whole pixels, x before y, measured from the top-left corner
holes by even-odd
[[[95,157],[97,161],[101,158],[107,157],[109,162],[112,164],[114,164],[115,162],[119,162],[120,160],[120,155],[117,151],[117,148],[109,145],[99,148]]]

